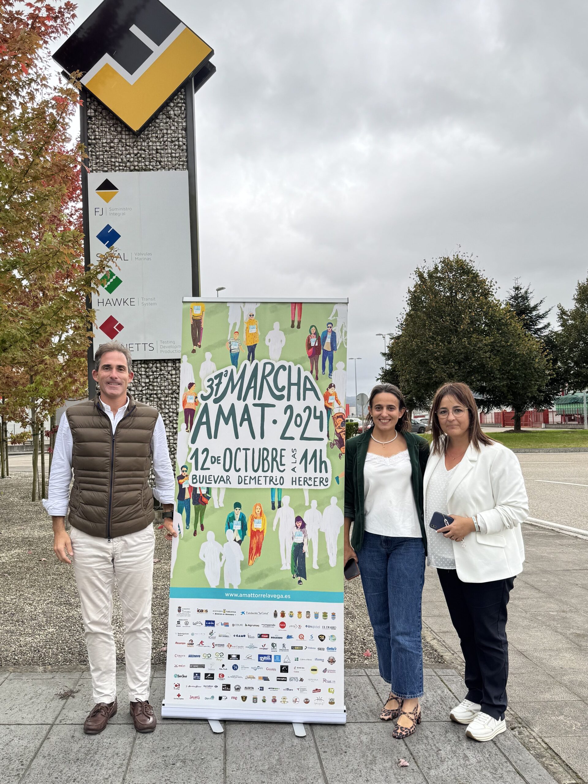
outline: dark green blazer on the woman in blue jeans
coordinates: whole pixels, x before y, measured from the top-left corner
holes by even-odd
[[[361,550],[364,541],[364,464],[368,454],[372,429],[354,436],[345,446],[345,517],[354,521],[351,546]],[[412,466],[412,492],[415,496],[416,510],[419,513],[420,529],[426,554],[426,532],[423,515],[423,474],[429,459],[429,442],[410,432],[403,432]]]

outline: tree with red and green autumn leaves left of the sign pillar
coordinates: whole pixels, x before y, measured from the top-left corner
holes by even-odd
[[[25,379],[2,390],[33,436],[33,499],[43,417],[85,379],[93,313],[85,298],[112,260],[84,269],[79,172],[70,125],[77,82],[59,85],[50,48],[72,2],[0,0],[0,368]],[[44,475],[42,477],[43,484]]]

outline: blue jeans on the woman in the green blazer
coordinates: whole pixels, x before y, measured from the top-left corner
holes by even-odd
[[[379,674],[397,697],[422,697],[423,539],[365,532],[358,562],[376,640]]]

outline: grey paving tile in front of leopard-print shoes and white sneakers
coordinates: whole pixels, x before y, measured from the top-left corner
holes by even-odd
[[[494,743],[466,738],[466,728],[450,721],[421,724],[406,745],[434,784],[524,784]]]

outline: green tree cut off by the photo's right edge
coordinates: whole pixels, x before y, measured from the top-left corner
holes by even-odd
[[[578,281],[573,305],[557,306],[557,346],[564,377],[572,390],[588,387],[588,278]]]

